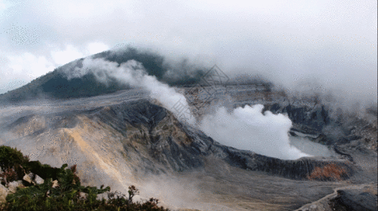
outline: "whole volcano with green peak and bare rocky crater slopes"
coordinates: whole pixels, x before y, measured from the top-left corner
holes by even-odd
[[[169,79],[164,58],[135,49],[91,58],[137,60],[187,99],[197,98],[193,86],[204,71]],[[285,114],[290,144],[311,156],[282,160],[220,143],[143,89],[103,84],[91,71],[72,77],[83,60],[0,96],[2,145],[54,167],[77,165],[86,185],[126,193],[135,184],[141,198],[153,194],[174,210],[331,210],[364,207],[353,196],[377,198],[377,112],[340,113],[256,81],[188,101],[200,109],[197,120],[226,97],[230,109],[261,104],[264,112]]]

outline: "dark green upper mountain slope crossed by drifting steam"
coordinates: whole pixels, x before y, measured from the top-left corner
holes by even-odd
[[[103,58],[108,61],[125,63],[128,60],[136,60],[143,64],[149,75],[154,75],[157,79],[167,82],[168,84],[193,84],[200,79],[202,70],[188,70],[185,61],[181,66],[175,68],[165,62],[164,57],[155,53],[137,51],[128,48],[119,51],[104,51],[97,53],[89,58]],[[53,72],[34,79],[29,84],[18,89],[0,94],[1,103],[16,103],[34,98],[79,98],[87,96],[98,96],[100,94],[113,93],[122,89],[129,89],[129,86],[117,82],[115,79],[109,79],[107,84],[98,82],[96,76],[89,71],[80,78],[70,78],[74,72],[80,71],[82,62],[85,58],[74,60],[63,65]],[[172,70],[179,77],[168,77],[165,75],[167,70]]]

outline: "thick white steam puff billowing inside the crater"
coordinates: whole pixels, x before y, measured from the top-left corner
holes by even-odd
[[[221,107],[214,115],[207,115],[201,129],[211,138],[226,146],[250,150],[261,155],[281,159],[310,156],[290,146],[288,132],[292,127],[289,117],[270,111],[262,113],[263,106],[235,108],[228,113]]]

